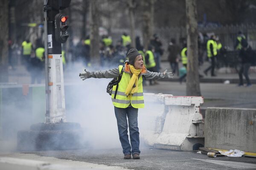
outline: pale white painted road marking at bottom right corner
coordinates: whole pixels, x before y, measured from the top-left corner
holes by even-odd
[[[195,159],[195,158],[192,158]],[[256,164],[244,163],[244,162],[235,162],[235,161],[218,161],[218,160],[209,160],[209,159],[195,159],[199,161],[205,161],[212,164],[219,164],[225,167],[232,167],[236,169],[256,169]]]

